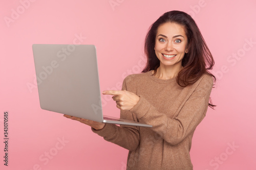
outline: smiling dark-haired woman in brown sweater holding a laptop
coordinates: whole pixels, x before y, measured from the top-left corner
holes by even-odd
[[[215,77],[211,53],[193,18],[164,13],[145,38],[147,64],[127,76],[113,95],[120,117],[153,128],[116,126],[65,115],[92,127],[105,140],[129,150],[127,169],[193,169],[189,151],[204,118]]]

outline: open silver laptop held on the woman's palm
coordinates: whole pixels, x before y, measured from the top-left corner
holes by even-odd
[[[40,107],[96,122],[152,127],[103,116],[94,45],[33,44]]]

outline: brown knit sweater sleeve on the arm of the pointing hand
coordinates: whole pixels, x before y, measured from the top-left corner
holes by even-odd
[[[204,77],[174,117],[160,113],[143,96],[140,96],[139,102],[130,111],[142,122],[152,125],[152,130],[166,142],[178,144],[193,133],[204,118],[212,84],[211,77]]]

